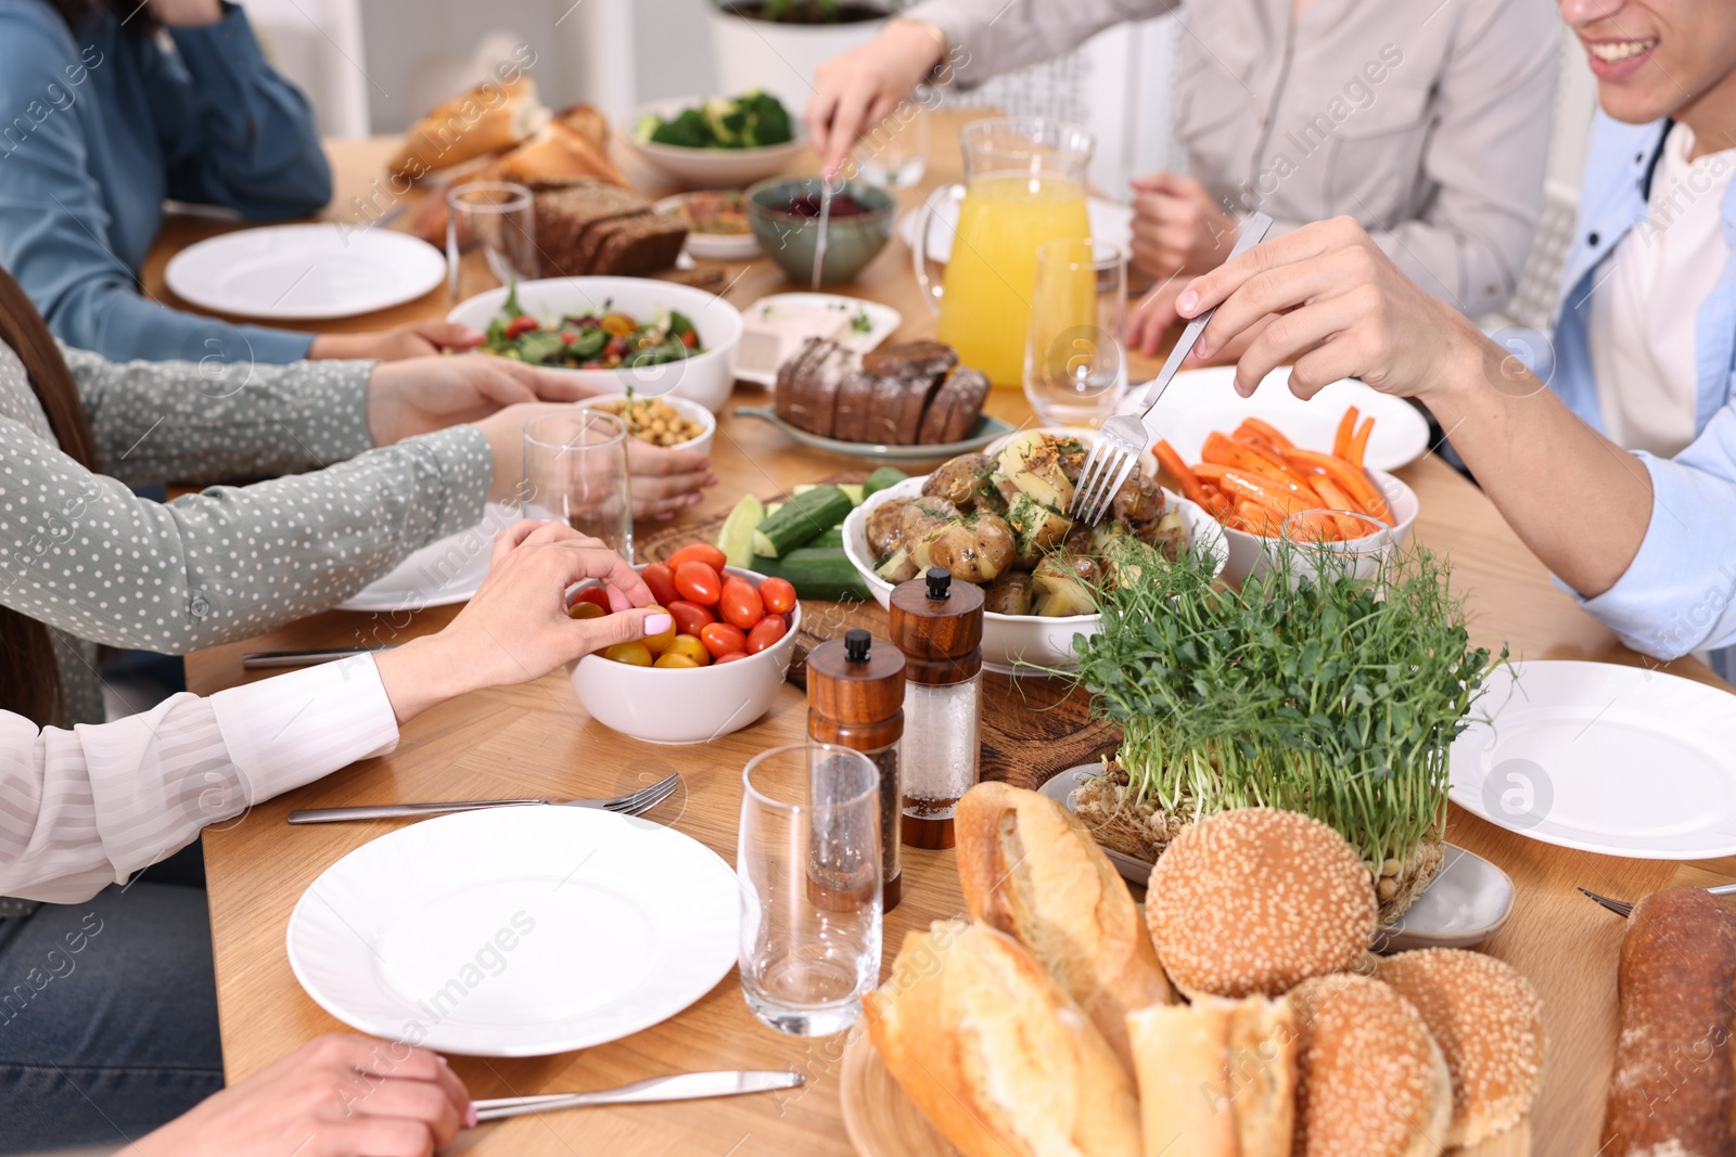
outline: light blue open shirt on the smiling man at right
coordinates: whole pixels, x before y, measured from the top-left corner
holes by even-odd
[[[1623,125],[1602,113],[1592,127],[1580,194],[1578,236],[1562,274],[1550,389],[1597,430],[1587,321],[1599,262],[1646,219],[1646,193],[1670,121]],[[1724,241],[1736,255],[1736,184],[1720,206]],[[1700,304],[1694,328],[1698,401],[1694,441],[1675,458],[1635,451],[1651,474],[1651,522],[1639,553],[1614,586],[1580,605],[1660,659],[1736,644],[1736,257]],[[1713,657],[1731,671],[1736,652]]]

